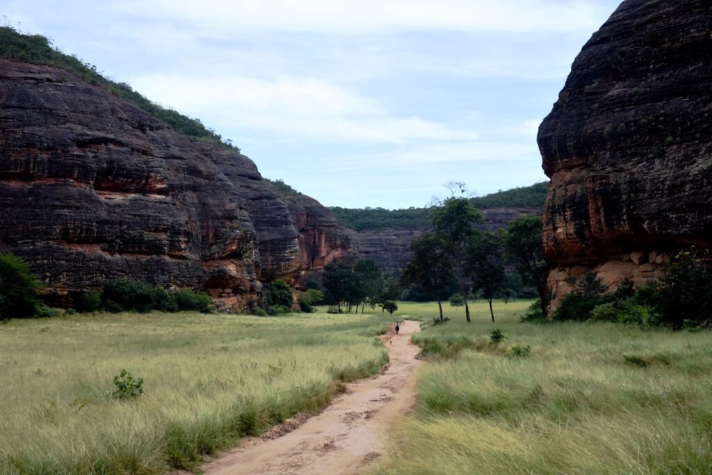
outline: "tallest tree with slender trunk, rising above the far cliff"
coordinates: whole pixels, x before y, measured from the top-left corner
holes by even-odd
[[[469,281],[466,272],[466,248],[468,240],[476,232],[473,225],[483,221],[482,213],[468,199],[449,197],[439,206],[431,208],[431,224],[447,252],[452,272],[458,282],[460,295],[465,302],[465,318],[470,323],[470,308],[467,305]]]

